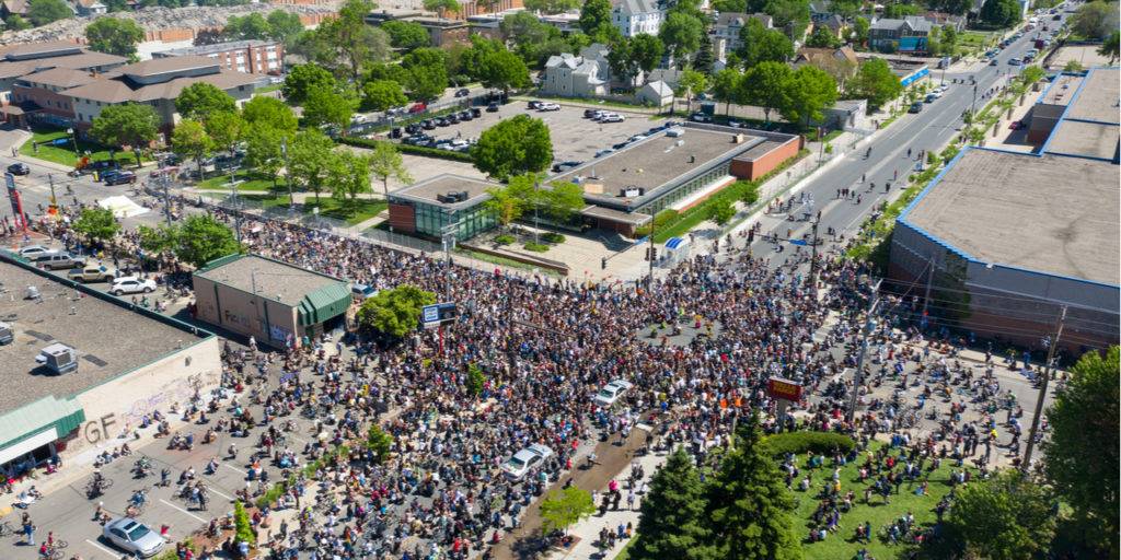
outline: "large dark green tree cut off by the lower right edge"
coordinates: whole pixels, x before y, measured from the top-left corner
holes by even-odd
[[[1104,357],[1090,352],[1078,360],[1047,410],[1051,431],[1044,442],[1044,474],[1087,528],[1084,542],[1099,558],[1115,558],[1119,548],[1119,357],[1112,346]]]

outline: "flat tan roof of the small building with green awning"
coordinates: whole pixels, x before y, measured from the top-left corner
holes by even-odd
[[[195,272],[195,276],[245,293],[253,293],[256,289],[256,293],[289,307],[298,306],[313,291],[342,282],[337,278],[254,254],[225,256]]]

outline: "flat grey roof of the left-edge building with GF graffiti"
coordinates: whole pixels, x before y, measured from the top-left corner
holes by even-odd
[[[24,299],[35,286],[38,300]],[[7,291],[7,293],[2,293]],[[71,396],[211,336],[129,310],[0,259],[0,321],[16,339],[0,346],[0,414],[48,395]],[[55,375],[35,356],[52,344],[78,353],[77,371]]]

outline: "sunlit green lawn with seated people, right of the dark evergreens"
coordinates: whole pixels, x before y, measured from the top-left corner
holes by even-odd
[[[873,444],[873,448],[876,449],[880,446]],[[799,457],[799,461],[802,459]],[[927,487],[926,495],[919,496],[915,494],[915,491],[920,485],[920,478],[919,482],[915,482],[914,484],[904,483],[899,487],[899,494],[891,495],[890,504],[884,505],[883,500],[874,495],[872,496],[871,504],[865,504],[863,491],[868,484],[860,482],[859,469],[861,464],[863,464],[863,454],[860,460],[850,463],[841,469],[842,494],[852,491],[856,494],[856,498],[854,500],[853,508],[841,515],[840,531],[830,534],[824,541],[810,543],[806,541],[806,535],[809,534],[809,529],[813,526],[813,514],[819,502],[816,496],[821,492],[822,484],[826,479],[832,478],[832,468],[823,467],[812,470],[814,484],[810,489],[807,492],[795,489],[793,492],[795,498],[798,501],[798,506],[795,511],[795,531],[803,539],[802,549],[805,551],[807,560],[850,560],[862,548],[868,549],[868,552],[878,559],[898,557],[906,550],[906,545],[890,544],[881,541],[878,535],[882,533],[884,528],[906,515],[907,512],[915,515],[915,521],[919,525],[928,526],[933,524],[936,520],[934,507],[943,496],[949,493],[949,473],[955,469],[953,460],[943,460],[938,470],[929,473],[928,467],[930,461],[927,460],[923,469],[924,475],[929,477],[929,486]],[[969,465],[969,461],[966,461],[966,465]],[[799,464],[799,468],[804,466],[804,463]],[[971,470],[973,469],[971,468]],[[856,525],[863,524],[865,521],[872,523],[873,538],[870,544],[853,541]]]

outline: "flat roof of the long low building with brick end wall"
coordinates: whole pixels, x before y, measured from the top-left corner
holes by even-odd
[[[666,131],[631,143],[626,148],[593,159],[568,172],[549,178],[549,181],[569,181],[584,186],[589,202],[604,202],[628,207],[640,206],[667,190],[677,187],[685,176],[744,153],[767,142],[742,129],[706,130],[678,125],[683,134],[670,137]],[[736,142],[736,137],[740,141]],[[601,185],[603,194],[597,194]],[[592,188],[590,188],[592,187]],[[619,196],[624,188],[645,189],[641,196]]]

